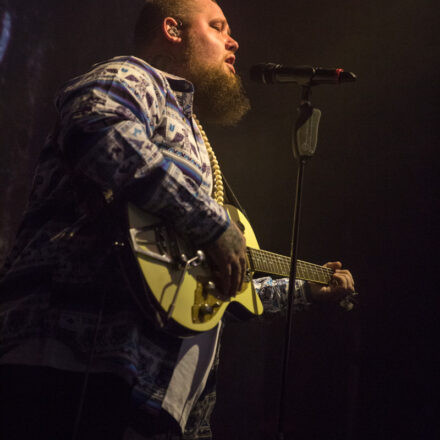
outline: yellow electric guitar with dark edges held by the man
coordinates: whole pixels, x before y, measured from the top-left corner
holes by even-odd
[[[173,333],[188,336],[214,328],[228,307],[235,313],[261,315],[263,305],[255,292],[255,272],[289,276],[290,258],[260,250],[254,231],[246,217],[227,205],[230,218],[242,229],[246,238],[247,269],[241,290],[228,300],[218,290],[203,252],[179,237],[173,228],[134,205],[128,205],[128,227],[131,249],[141,275],[152,294],[153,305],[162,328],[173,327]],[[329,284],[333,270],[305,261],[297,262],[297,279]],[[138,295],[138,294],[137,294]],[[136,298],[138,304],[145,299]]]

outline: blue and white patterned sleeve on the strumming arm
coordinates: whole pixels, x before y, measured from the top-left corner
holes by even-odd
[[[164,81],[127,63],[71,81],[57,100],[58,144],[69,167],[102,194],[168,219],[200,245],[218,238],[229,218],[151,140],[166,110]]]

